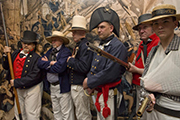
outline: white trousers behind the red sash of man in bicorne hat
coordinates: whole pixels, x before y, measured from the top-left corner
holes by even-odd
[[[122,100],[122,94],[119,93],[119,91],[117,91],[117,106],[119,106],[119,104],[121,103],[121,100]],[[104,108],[103,94],[101,94],[99,97],[99,103],[101,106],[101,116],[103,117],[102,115],[102,111]],[[107,118],[103,117],[103,120],[114,120],[115,116],[114,116],[114,90],[113,89],[109,90],[107,105],[111,109],[111,114]],[[98,115],[97,115],[97,120],[101,120]]]

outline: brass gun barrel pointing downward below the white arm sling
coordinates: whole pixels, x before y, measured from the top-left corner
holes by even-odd
[[[138,108],[138,111],[136,113],[136,115],[138,117],[142,117],[144,111],[146,110],[146,108],[148,107],[148,104],[150,103],[151,98],[149,96],[145,97],[145,99],[142,101],[141,105]]]

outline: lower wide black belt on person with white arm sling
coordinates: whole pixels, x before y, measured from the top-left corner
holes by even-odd
[[[154,109],[156,109],[157,111],[161,112],[161,113],[164,113],[166,115],[170,115],[170,116],[173,116],[173,117],[177,117],[177,118],[180,118],[180,111],[177,111],[177,110],[171,110],[171,109],[168,109],[168,108],[165,108],[165,107],[162,107],[162,106],[159,106],[157,104],[154,105]]]

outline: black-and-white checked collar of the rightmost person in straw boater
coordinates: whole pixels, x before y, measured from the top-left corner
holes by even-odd
[[[168,54],[170,51],[177,51],[179,49],[179,44],[180,44],[180,38],[174,34],[174,37],[170,44],[168,45],[165,54]]]

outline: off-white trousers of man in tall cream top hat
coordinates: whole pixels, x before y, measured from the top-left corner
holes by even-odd
[[[91,120],[90,97],[84,94],[83,87],[81,85],[71,85],[71,96],[77,120]]]

